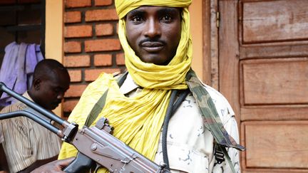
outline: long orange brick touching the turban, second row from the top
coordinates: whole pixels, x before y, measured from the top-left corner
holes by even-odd
[[[116,9],[99,9],[86,11],[86,21],[115,21],[118,20]]]

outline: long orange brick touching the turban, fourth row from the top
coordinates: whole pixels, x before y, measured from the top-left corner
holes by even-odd
[[[118,51],[120,48],[120,41],[118,39],[97,39],[85,41],[86,52]]]

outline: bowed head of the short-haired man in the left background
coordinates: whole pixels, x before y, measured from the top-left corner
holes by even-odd
[[[34,69],[29,95],[47,110],[58,107],[71,81],[68,70],[56,60],[44,59]]]

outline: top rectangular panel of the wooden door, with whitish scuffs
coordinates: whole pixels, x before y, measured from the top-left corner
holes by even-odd
[[[308,38],[307,0],[247,1],[242,4],[243,43]]]

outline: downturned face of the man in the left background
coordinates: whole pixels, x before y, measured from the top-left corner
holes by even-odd
[[[68,90],[70,78],[61,71],[53,71],[49,75],[51,78],[41,79],[39,90],[36,90],[36,102],[47,110],[54,110]]]

